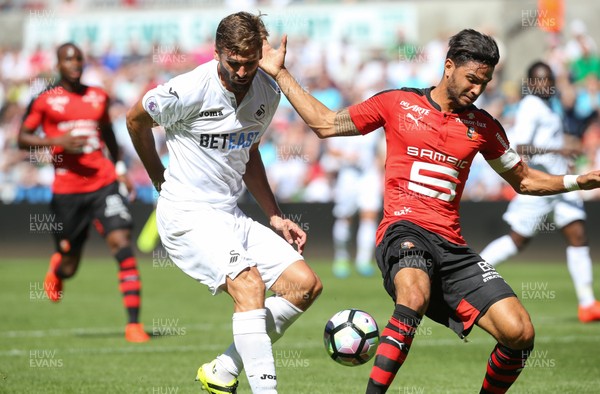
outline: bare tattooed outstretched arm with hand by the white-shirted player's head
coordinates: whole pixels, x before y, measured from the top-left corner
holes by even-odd
[[[282,37],[278,49],[265,40],[260,67],[275,79],[302,120],[319,138],[359,135],[347,109],[338,112],[330,110],[298,84],[285,68],[286,46],[287,35]]]

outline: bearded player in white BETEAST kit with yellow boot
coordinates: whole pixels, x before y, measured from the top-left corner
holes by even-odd
[[[210,393],[236,392],[242,369],[253,393],[276,393],[271,345],[322,289],[300,254],[306,234],[279,209],[258,150],[280,99],[258,68],[267,35],[260,15],[225,17],[214,60],[148,91],[127,114],[134,146],[160,191],[156,217],[165,250],[212,294],[233,299],[233,344],[198,370]],[[166,131],[166,170],[153,123]],[[275,231],[238,208],[243,183]],[[267,290],[274,295],[266,298]]]

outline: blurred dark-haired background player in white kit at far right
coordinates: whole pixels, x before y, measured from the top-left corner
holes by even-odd
[[[550,174],[564,174],[569,157],[576,153],[565,148],[564,123],[551,100],[556,90],[551,68],[542,62],[529,67],[529,93],[519,104],[511,142],[529,158],[529,165]],[[517,195],[503,216],[510,233],[486,246],[481,257],[500,264],[523,250],[549,219],[561,229],[567,241],[567,265],[579,301],[579,320],[600,320],[600,302],[592,289],[592,260],[585,231],[586,213],[577,192],[552,196]]]

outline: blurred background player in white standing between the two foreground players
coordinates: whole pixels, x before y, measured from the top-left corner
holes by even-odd
[[[352,218],[358,213],[354,265],[363,276],[375,273],[375,233],[383,199],[383,133],[327,140],[327,157],[337,171],[334,188],[333,274],[350,275]]]

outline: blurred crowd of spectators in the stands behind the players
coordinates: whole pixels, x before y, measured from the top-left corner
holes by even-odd
[[[273,37],[276,40],[276,37]],[[307,38],[293,37],[288,44],[288,67],[300,85],[331,109],[352,104],[374,93],[400,87],[428,87],[436,84],[442,70],[448,37],[430,42],[408,42],[398,31],[394,45],[360,50],[351,42],[323,46]],[[501,51],[502,43],[501,44]],[[132,46],[117,53],[110,46],[103,53],[84,49],[87,65],[82,82],[98,85],[112,98],[110,115],[124,153],[128,173],[135,184],[137,199],[151,203],[154,191],[133,149],[125,127],[125,113],[149,88],[172,76],[191,70],[212,59],[212,37],[195,50],[182,52],[176,46],[156,44],[149,53]],[[544,59],[556,76],[565,122],[573,140],[581,139],[582,154],[574,161],[573,173],[600,168],[600,54],[596,41],[579,20],[570,21],[565,34],[547,33]],[[32,97],[57,82],[52,49],[27,52],[0,49],[0,201],[47,203],[53,180],[52,156],[47,149],[19,151],[16,136]],[[495,77],[476,105],[495,116],[509,134],[512,116],[522,93],[524,80],[509,80],[500,64]],[[157,144],[165,149],[160,129]],[[360,138],[360,137],[353,137]],[[261,152],[276,196],[282,202],[329,202],[335,183],[336,166],[331,165],[325,142],[319,140],[299,119],[290,104],[282,101],[270,130],[263,138]],[[512,189],[492,174],[478,157],[472,167],[464,199],[508,200]],[[585,192],[585,199],[598,199],[597,191]]]

